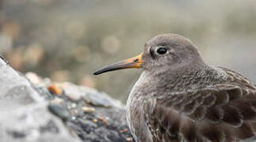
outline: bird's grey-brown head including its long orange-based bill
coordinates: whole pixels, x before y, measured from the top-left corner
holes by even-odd
[[[94,75],[128,68],[142,68],[149,73],[158,74],[191,69],[202,63],[201,54],[189,39],[176,34],[162,34],[147,41],[142,54],[105,66]]]

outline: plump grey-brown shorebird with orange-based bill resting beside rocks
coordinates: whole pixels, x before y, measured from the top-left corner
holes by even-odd
[[[204,62],[191,40],[165,33],[142,54],[107,65],[94,75],[142,69],[127,101],[136,142],[254,141],[256,87],[243,75]]]

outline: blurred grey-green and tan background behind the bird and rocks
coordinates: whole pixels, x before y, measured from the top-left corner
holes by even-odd
[[[22,73],[97,88],[125,102],[141,70],[92,73],[172,32],[191,39],[207,62],[256,83],[255,13],[254,0],[0,0],[0,54]]]

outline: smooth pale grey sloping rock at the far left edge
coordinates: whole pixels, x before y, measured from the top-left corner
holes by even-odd
[[[45,100],[21,73],[0,58],[0,141],[81,141],[48,110]]]

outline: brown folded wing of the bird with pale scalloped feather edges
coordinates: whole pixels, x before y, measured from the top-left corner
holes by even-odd
[[[234,81],[218,84],[215,90],[194,92],[187,99],[147,101],[144,117],[153,141],[234,141],[255,136],[255,86],[227,73]]]

